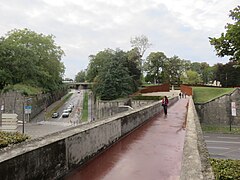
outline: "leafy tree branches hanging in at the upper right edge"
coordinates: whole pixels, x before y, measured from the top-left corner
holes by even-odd
[[[240,6],[230,11],[233,24],[225,26],[226,33],[219,38],[209,38],[210,44],[215,47],[217,56],[230,56],[230,60],[240,62]]]

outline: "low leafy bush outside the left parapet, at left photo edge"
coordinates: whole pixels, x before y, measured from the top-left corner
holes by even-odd
[[[25,134],[19,132],[4,132],[0,131],[0,148],[6,147],[10,144],[17,144],[29,139]]]

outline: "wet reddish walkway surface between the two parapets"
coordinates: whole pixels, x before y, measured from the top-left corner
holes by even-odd
[[[67,180],[176,180],[180,177],[188,99],[130,133]]]

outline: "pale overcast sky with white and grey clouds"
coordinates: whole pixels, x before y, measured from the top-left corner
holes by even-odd
[[[208,37],[219,37],[239,0],[0,0],[0,36],[28,28],[53,34],[66,56],[65,77],[87,68],[89,55],[106,48],[131,49],[145,35],[146,52],[164,52],[192,62],[226,63]]]

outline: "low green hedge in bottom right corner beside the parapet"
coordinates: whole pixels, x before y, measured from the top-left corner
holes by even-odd
[[[240,160],[210,159],[216,180],[239,180]]]

